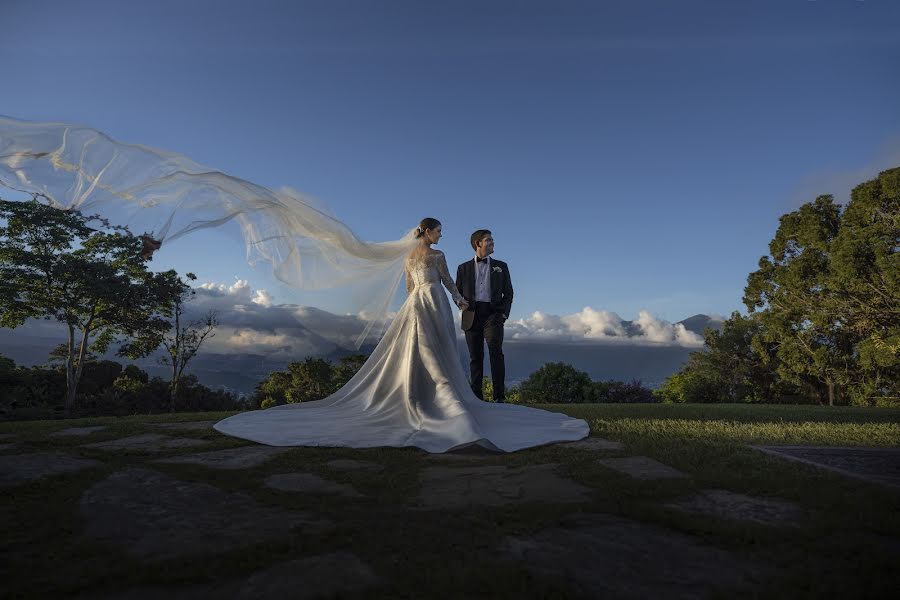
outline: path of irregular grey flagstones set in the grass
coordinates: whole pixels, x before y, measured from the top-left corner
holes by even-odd
[[[159,428],[201,431],[213,423],[167,423]],[[48,434],[48,439],[87,436],[104,429],[105,426],[68,428]],[[14,434],[0,436],[4,441],[15,438]],[[149,454],[179,449],[186,452],[166,458],[150,457],[153,460],[138,455],[135,460],[140,465],[121,468],[92,483],[78,503],[84,534],[141,560],[153,562],[296,539],[298,533],[318,536],[332,532],[339,525],[322,514],[257,500],[252,491],[226,491],[216,485],[163,472],[166,465],[173,464],[199,465],[213,470],[250,470],[263,467],[293,450],[261,445],[207,452],[192,450],[209,443],[196,438],[149,433],[69,448],[69,452],[78,452],[79,448],[108,452],[134,450]],[[18,442],[11,441],[0,444],[0,450],[12,452],[18,446]],[[624,453],[620,442],[590,437],[560,444],[560,448],[596,453],[592,458],[596,464],[639,481],[672,479],[690,483],[688,474],[649,457],[616,456],[616,453]],[[900,481],[897,466],[900,450],[896,449],[758,449],[870,481],[888,485]],[[506,537],[495,551],[505,560],[518,562],[539,576],[552,578],[565,574],[568,584],[587,597],[679,599],[705,597],[711,593],[721,593],[725,597],[736,590],[758,586],[771,576],[769,567],[710,546],[697,537],[621,516],[579,513],[577,505],[591,502],[599,490],[568,478],[566,467],[561,464],[484,464],[484,461],[499,462],[504,456],[507,455],[479,449],[447,454],[423,453],[422,468],[418,472],[419,493],[408,499],[406,508],[447,511],[473,506],[572,504],[569,517],[532,534]],[[64,451],[3,454],[0,455],[0,487],[9,488],[41,478],[103,467],[104,464]],[[324,463],[326,476],[304,469],[267,475],[264,484],[269,489],[296,494],[297,506],[304,506],[304,495],[334,495],[352,502],[365,496],[350,483],[329,480],[328,472],[339,478],[361,477],[365,481],[371,476],[369,474],[383,473],[386,468],[372,460],[340,458]],[[323,469],[321,463],[311,467],[311,470],[317,469]],[[98,473],[98,476],[102,475]],[[293,507],[294,501],[290,502],[287,506]],[[772,527],[802,525],[807,518],[803,509],[788,500],[754,497],[724,489],[695,490],[663,502],[662,506],[671,510]],[[385,583],[359,557],[349,551],[337,551],[301,556],[225,581],[172,588],[110,589],[96,597],[165,596],[169,600],[194,597],[313,598],[362,594]]]

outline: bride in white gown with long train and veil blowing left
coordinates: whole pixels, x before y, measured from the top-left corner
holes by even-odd
[[[457,352],[453,311],[462,307],[444,254],[441,224],[425,219],[400,240],[364,242],[315,201],[273,191],[89,127],[0,116],[0,186],[63,210],[99,214],[141,236],[142,256],[195,231],[237,224],[251,263],[297,288],[362,289],[371,318],[357,347],[383,322],[400,277],[409,296],[362,369],[316,402],[251,411],[218,422],[226,434],[273,446],[417,446],[429,452],[480,445],[512,452],[588,435],[587,423],[478,400]]]

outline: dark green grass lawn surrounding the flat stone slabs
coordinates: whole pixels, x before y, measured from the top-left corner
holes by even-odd
[[[592,435],[618,440],[624,452],[593,452],[552,445],[477,462],[435,462],[414,449],[295,448],[260,467],[217,471],[202,466],[155,464],[160,455],[107,453],[82,444],[139,433],[164,433],[210,442],[161,456],[193,454],[247,445],[214,431],[160,431],[153,424],[214,420],[225,413],[31,421],[0,424],[17,445],[4,455],[61,451],[102,461],[103,466],[49,477],[3,490],[0,496],[0,596],[42,597],[103,594],[140,586],[186,586],[246,576],[279,561],[350,550],[386,583],[369,595],[396,597],[567,597],[565,578],[532,575],[496,551],[508,535],[523,536],[553,526],[572,513],[609,513],[690,534],[769,575],[746,597],[887,597],[900,585],[900,492],[762,454],[748,444],[900,446],[900,409],[748,405],[549,405],[586,419]],[[228,413],[230,414],[230,413]],[[67,427],[106,425],[84,438],[47,437]],[[3,443],[3,442],[0,442]],[[598,464],[598,457],[641,455],[679,469],[688,477],[639,481]],[[335,458],[377,462],[381,472],[335,472]],[[509,467],[558,463],[559,472],[593,489],[581,504],[473,506],[459,511],[424,511],[415,506],[419,473],[435,465]],[[258,502],[311,511],[337,527],[319,535],[190,560],[145,564],[121,548],[83,534],[82,493],[110,474],[142,466],[172,477],[204,482],[251,495]],[[317,473],[349,483],[363,497],[308,496],[271,490],[267,476],[289,471]],[[791,527],[771,527],[709,515],[691,515],[664,505],[703,489],[726,489],[799,505],[806,518]],[[241,518],[236,515],[235,518]],[[173,540],[173,543],[177,541]],[[652,565],[650,566],[652,567]],[[740,594],[739,594],[740,596]],[[726,593],[723,597],[734,597]]]

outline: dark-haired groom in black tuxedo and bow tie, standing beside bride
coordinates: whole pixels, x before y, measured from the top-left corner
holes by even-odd
[[[503,323],[512,308],[512,281],[509,268],[501,260],[490,258],[494,253],[494,237],[487,229],[472,234],[475,258],[456,269],[456,288],[469,306],[462,314],[462,329],[469,347],[469,371],[472,391],[482,397],[484,378],[484,343],[491,360],[491,379],[494,383],[494,402],[506,399],[506,365],[503,362]]]

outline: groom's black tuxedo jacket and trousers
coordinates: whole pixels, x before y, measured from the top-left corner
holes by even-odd
[[[456,269],[456,288],[469,304],[462,314],[462,329],[466,332],[469,347],[469,374],[472,391],[482,397],[481,381],[484,378],[484,343],[488,345],[491,360],[491,380],[494,384],[494,400],[503,401],[506,396],[506,364],[503,357],[503,322],[512,309],[512,280],[509,267],[502,260],[490,259],[490,302],[475,302],[475,259],[468,260]]]

